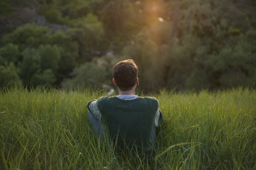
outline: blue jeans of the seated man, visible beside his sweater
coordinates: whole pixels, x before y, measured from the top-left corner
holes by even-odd
[[[88,111],[88,116],[90,120],[90,125],[92,126],[93,132],[96,133],[97,138],[99,139],[99,135],[101,139],[105,141],[104,137],[104,125],[100,120],[98,120],[90,111]],[[154,127],[153,132],[151,133],[151,140],[155,143],[156,142],[156,128]]]

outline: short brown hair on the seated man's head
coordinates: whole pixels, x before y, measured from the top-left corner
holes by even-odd
[[[133,59],[126,59],[114,65],[113,77],[117,87],[122,91],[129,91],[138,77],[138,67]]]

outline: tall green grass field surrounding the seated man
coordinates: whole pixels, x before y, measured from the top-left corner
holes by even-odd
[[[151,94],[164,122],[149,164],[95,138],[86,104],[104,91],[1,91],[0,170],[256,170],[255,92]]]

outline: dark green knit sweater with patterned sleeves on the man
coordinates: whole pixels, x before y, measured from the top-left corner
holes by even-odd
[[[103,96],[88,102],[87,108],[97,119],[105,122],[111,139],[117,141],[119,147],[128,145],[130,148],[137,146],[138,150],[152,150],[151,133],[163,122],[156,98],[123,100],[116,96]]]

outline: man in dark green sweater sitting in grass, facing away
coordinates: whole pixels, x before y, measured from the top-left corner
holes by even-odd
[[[87,103],[93,130],[105,140],[102,132],[107,127],[119,148],[136,146],[137,150],[151,152],[156,142],[155,127],[163,122],[163,115],[156,98],[135,95],[139,79],[138,67],[132,59],[114,66],[113,84],[118,87],[118,96],[103,96]]]

